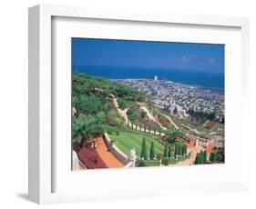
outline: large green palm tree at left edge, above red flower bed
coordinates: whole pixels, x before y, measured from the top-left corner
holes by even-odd
[[[73,139],[80,144],[80,147],[87,143],[88,140],[102,133],[102,125],[98,124],[94,117],[77,118],[73,122]]]

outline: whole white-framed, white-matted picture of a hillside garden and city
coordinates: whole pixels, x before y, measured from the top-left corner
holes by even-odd
[[[31,7],[29,199],[247,189],[248,30],[241,17]]]

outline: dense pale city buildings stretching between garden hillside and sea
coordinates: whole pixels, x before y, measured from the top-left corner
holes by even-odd
[[[153,95],[154,104],[159,108],[175,111],[186,117],[189,109],[197,112],[214,113],[221,120],[224,115],[224,92],[199,86],[182,85],[167,80],[154,79],[117,79],[119,84],[128,85]]]

